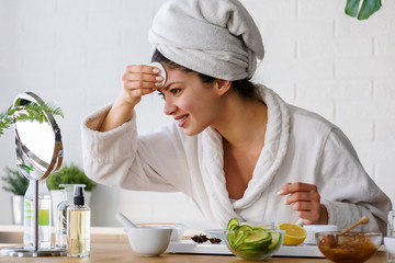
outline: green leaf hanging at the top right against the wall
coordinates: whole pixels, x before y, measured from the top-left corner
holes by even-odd
[[[381,8],[381,0],[362,0],[362,4],[360,8],[361,0],[347,0],[345,12],[346,14],[356,18],[358,20],[366,20],[373,13],[377,12]]]

